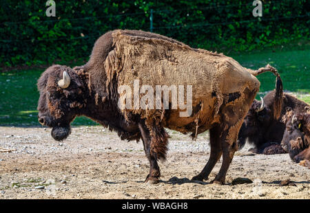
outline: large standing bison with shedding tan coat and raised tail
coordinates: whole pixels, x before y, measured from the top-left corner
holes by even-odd
[[[165,127],[192,133],[193,137],[209,129],[209,161],[193,179],[207,179],[223,155],[214,182],[224,183],[238,150],[236,141],[242,119],[260,87],[254,76],[265,71],[277,74],[269,65],[257,71],[246,69],[223,54],[193,49],[158,34],[114,30],[96,41],[85,65],[74,69],[53,65],[43,72],[38,82],[39,122],[52,127],[56,140],[68,137],[70,123],[80,115],[116,131],[121,139],[142,139],[150,164],[145,180],[149,183],[157,183],[160,177],[157,160],[165,159],[169,137]],[[187,99],[187,105],[192,111],[183,111],[183,106],[170,107],[172,96],[164,104],[162,97],[157,98],[159,109],[150,107],[150,102],[146,102],[145,109],[136,104],[132,109],[121,109],[120,102],[127,100],[122,98],[122,88],[134,90],[139,85],[147,85],[144,89],[190,86],[192,98]],[[134,100],[144,93],[146,90]]]

